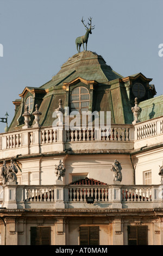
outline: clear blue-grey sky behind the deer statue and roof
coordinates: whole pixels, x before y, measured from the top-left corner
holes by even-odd
[[[95,25],[87,50],[102,55],[122,76],[142,72],[163,93],[163,0],[0,0],[0,117],[14,117],[12,101],[26,86],[40,87],[77,53],[85,34],[81,19]],[[81,47],[82,49],[82,47]],[[0,132],[5,124],[0,123]]]

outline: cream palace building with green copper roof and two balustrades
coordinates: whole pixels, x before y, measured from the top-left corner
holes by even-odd
[[[0,134],[1,245],[163,245],[163,95],[152,78],[83,51],[22,90]]]

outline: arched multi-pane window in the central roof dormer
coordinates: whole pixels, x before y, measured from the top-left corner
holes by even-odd
[[[78,111],[80,114],[82,114],[82,111],[89,110],[89,102],[89,90],[87,90],[85,87],[76,87],[72,90],[70,95],[71,111]]]

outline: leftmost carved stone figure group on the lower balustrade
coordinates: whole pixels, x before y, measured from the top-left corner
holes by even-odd
[[[6,185],[8,182],[17,182],[17,172],[18,170],[13,160],[11,160],[10,166],[7,166],[6,161],[3,161],[3,166],[1,168],[1,179],[3,185]]]

